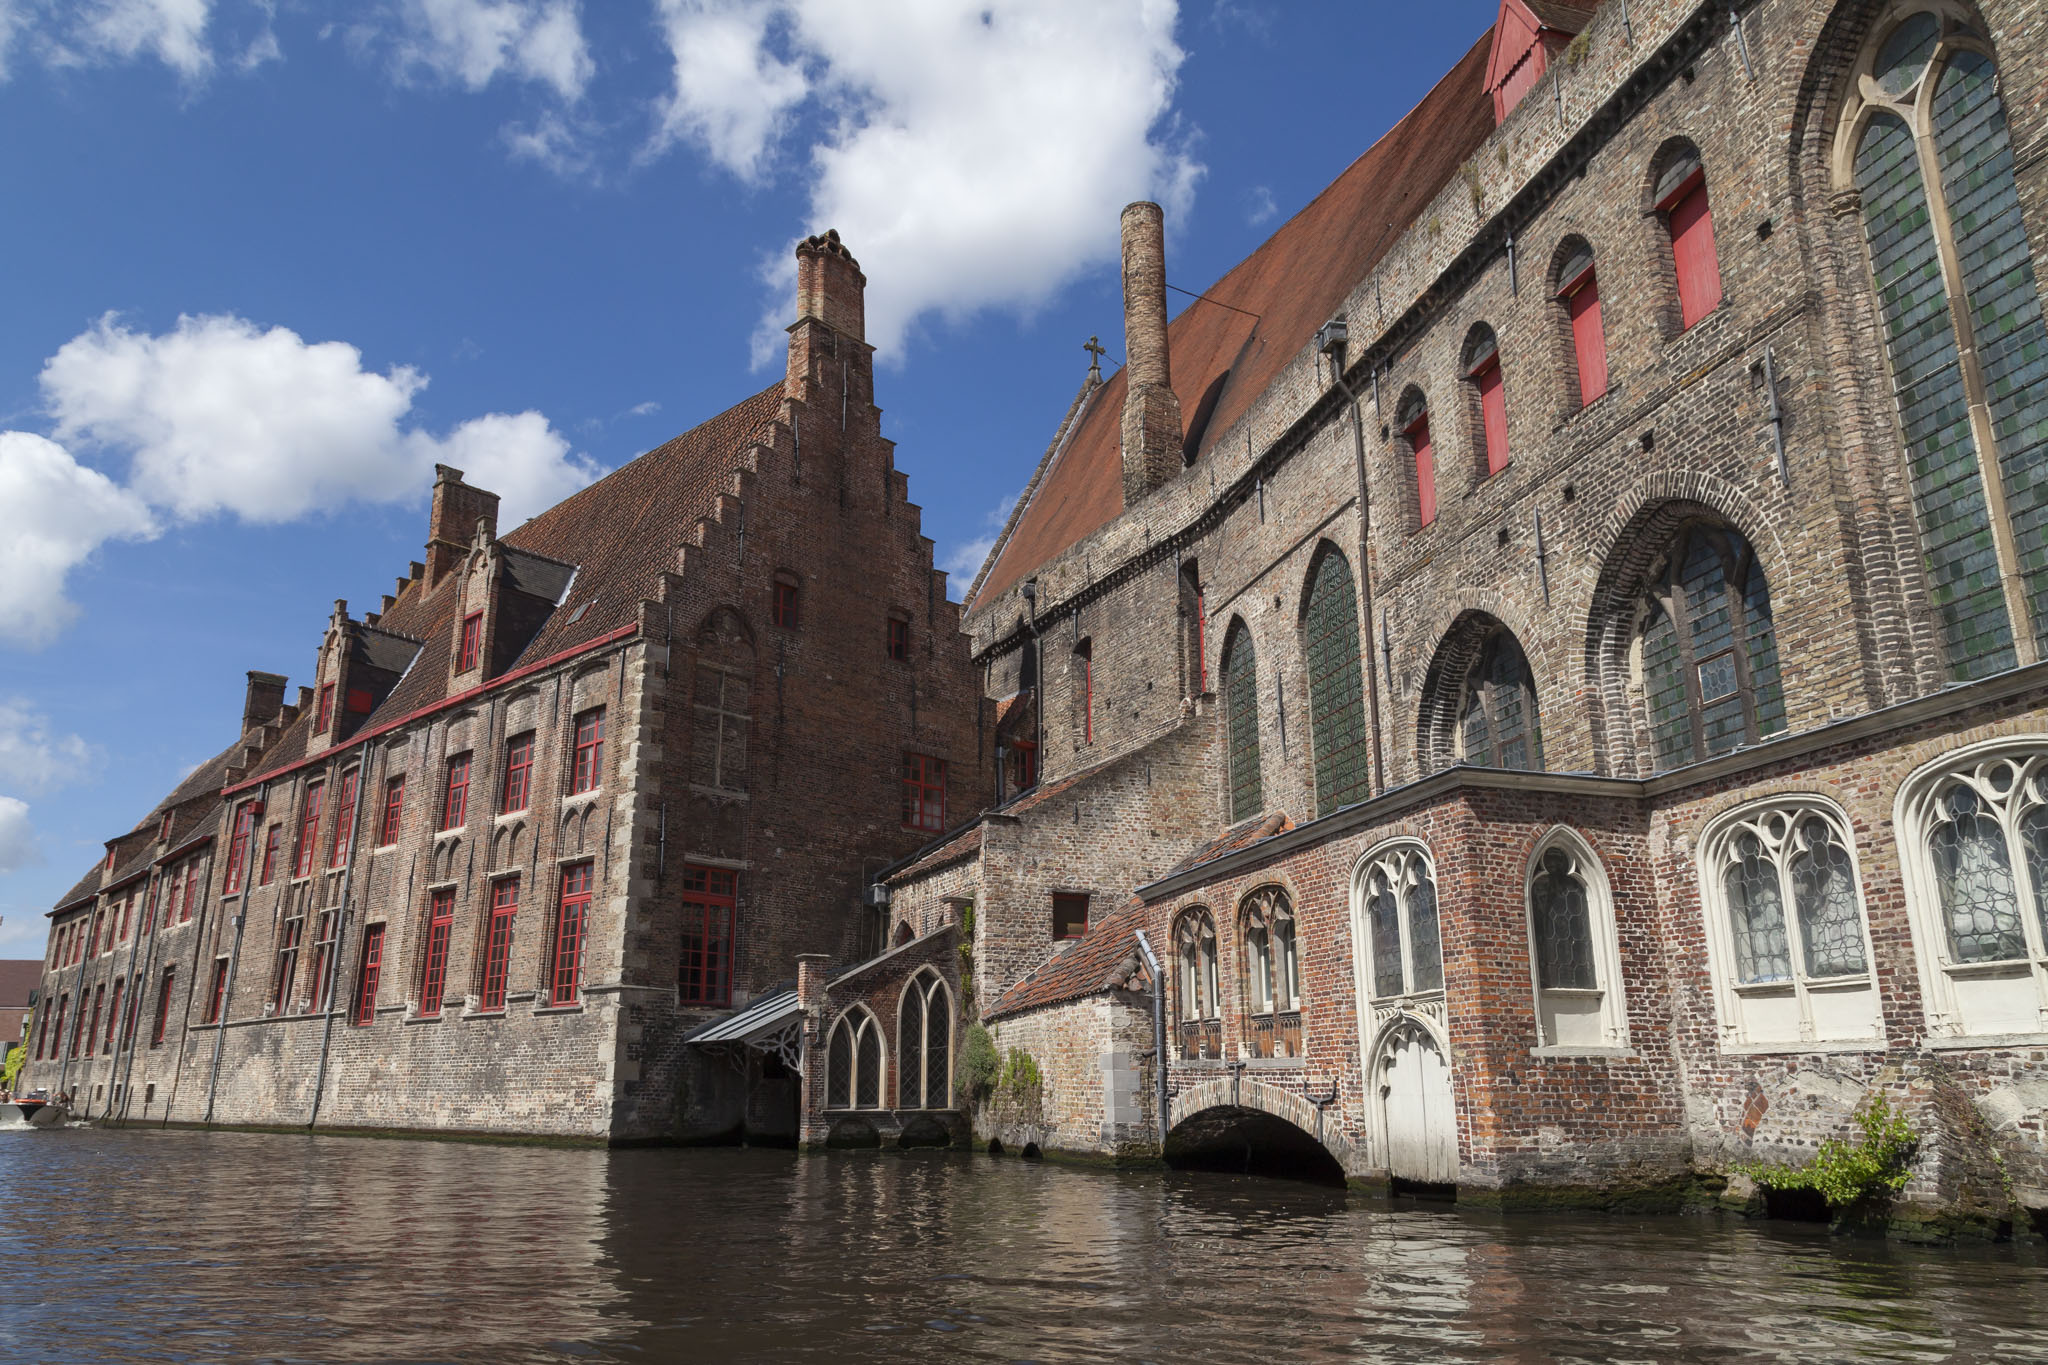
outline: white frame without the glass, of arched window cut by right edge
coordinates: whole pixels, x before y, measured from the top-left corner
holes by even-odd
[[[2011,786],[2003,794],[1997,790],[2001,769],[2011,780]],[[1937,825],[1933,819],[1935,798],[1948,788],[1952,778],[1976,788],[2005,831],[2013,892],[2017,896],[2015,905],[2028,945],[2023,958],[2005,962],[1950,960],[1942,888],[1935,882],[1927,837]],[[2036,794],[2028,798],[2025,788],[2036,780]],[[1917,767],[1898,784],[1898,800],[1892,806],[1892,829],[1898,831],[1898,870],[1905,878],[1907,923],[1913,929],[1913,956],[1919,962],[1927,1042],[1933,1046],[1991,1048],[2048,1042],[2048,941],[2044,941],[2048,935],[2042,929],[2025,853],[2017,841],[2019,819],[2042,804],[2048,804],[2048,735],[2015,735],[1966,745]],[[1972,984],[2019,976],[2034,978],[2034,1025],[2025,1027],[2021,1021],[2021,1027],[2007,1029],[1970,1027],[1968,1015],[1974,1011],[1968,1009],[1968,997],[1985,995],[1982,986],[1972,990]]]

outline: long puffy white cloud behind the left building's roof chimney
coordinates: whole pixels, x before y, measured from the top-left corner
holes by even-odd
[[[451,463],[504,495],[510,526],[600,473],[532,411],[475,417],[446,438],[412,428],[424,387],[410,366],[362,368],[346,342],[242,317],[180,317],[150,336],[109,315],[43,366],[57,440],[129,452],[133,493],[184,520],[401,501]]]

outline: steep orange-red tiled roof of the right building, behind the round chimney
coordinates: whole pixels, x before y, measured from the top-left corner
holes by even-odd
[[[1346,168],[1260,250],[1202,291],[1167,325],[1174,393],[1190,424],[1223,385],[1200,432],[1206,454],[1329,321],[1380,256],[1493,133],[1489,29],[1384,137]],[[1171,270],[1167,272],[1171,276]],[[1233,309],[1243,309],[1237,313]],[[1245,317],[1257,313],[1257,319]],[[1030,505],[995,551],[975,602],[995,598],[1124,510],[1120,420],[1124,372],[1096,391],[1073,438],[1049,456]]]

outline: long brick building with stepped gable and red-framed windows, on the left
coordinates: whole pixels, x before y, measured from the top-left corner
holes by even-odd
[[[877,954],[872,874],[993,780],[866,280],[836,233],[797,266],[766,391],[504,534],[440,469],[424,561],[334,604],[297,700],[250,673],[236,743],[55,907],[23,1087],[119,1121],[795,1138],[774,1048],[686,1036],[801,954]]]

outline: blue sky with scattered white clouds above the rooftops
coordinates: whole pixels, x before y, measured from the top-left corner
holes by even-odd
[[[807,231],[958,598],[1122,352],[1116,211],[1202,289],[1493,10],[0,0],[0,956],[389,591],[434,460],[518,520],[766,385]]]

